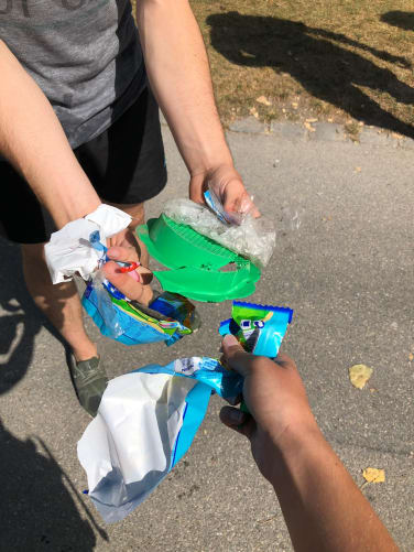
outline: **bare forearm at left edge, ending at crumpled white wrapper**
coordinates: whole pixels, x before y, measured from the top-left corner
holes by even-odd
[[[96,209],[100,199],[52,106],[2,41],[0,74],[0,153],[23,175],[57,227]]]

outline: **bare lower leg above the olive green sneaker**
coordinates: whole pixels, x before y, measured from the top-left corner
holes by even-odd
[[[76,360],[96,357],[96,345],[84,328],[83,309],[75,283],[52,283],[44,258],[44,243],[23,245],[22,257],[24,279],[33,301],[70,345]]]

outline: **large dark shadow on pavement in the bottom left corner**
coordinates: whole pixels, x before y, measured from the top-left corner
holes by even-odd
[[[15,439],[0,421],[0,550],[91,551],[96,544],[89,510],[81,519],[64,485],[72,486],[57,462],[37,440]],[[73,486],[72,486],[73,487]]]

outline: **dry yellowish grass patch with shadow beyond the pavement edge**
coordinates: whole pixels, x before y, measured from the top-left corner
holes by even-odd
[[[225,122],[355,121],[414,137],[412,0],[192,0]]]

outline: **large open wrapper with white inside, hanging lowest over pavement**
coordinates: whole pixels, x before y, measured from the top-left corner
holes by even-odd
[[[185,397],[195,385],[167,374],[126,374],[109,382],[77,450],[105,521],[128,516],[168,473]]]

